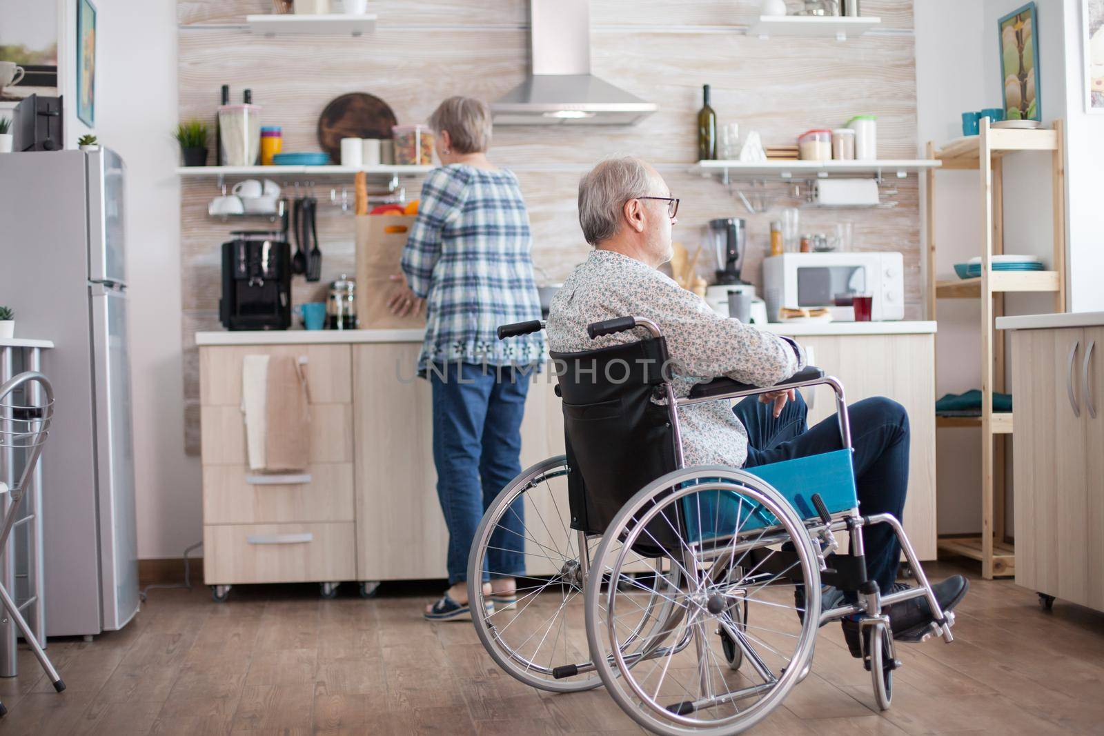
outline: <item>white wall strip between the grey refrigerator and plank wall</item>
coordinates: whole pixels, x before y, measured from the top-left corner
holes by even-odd
[[[171,137],[177,3],[97,0],[96,7],[95,134],[127,163],[138,554],[178,557],[200,540],[202,511],[199,459],[184,455],[183,437],[179,153]]]

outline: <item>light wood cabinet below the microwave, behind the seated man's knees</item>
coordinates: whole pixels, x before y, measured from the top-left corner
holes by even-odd
[[[909,495],[903,525],[921,559],[935,559],[935,363],[934,334],[870,334],[795,338],[813,361],[843,384],[847,403],[888,396],[909,413]],[[836,413],[828,386],[806,390],[809,426]],[[852,434],[858,427],[852,426]]]

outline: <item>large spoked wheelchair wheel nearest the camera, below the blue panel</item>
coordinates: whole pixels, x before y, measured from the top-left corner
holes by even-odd
[[[671,575],[656,587],[667,618],[626,653],[626,637],[639,636],[631,627],[637,606],[597,582],[624,577],[641,545],[665,547],[681,579]],[[586,588],[591,659],[613,698],[645,728],[736,734],[777,707],[811,660],[820,597],[806,596],[798,609],[797,585],[819,590],[820,570],[782,494],[732,468],[677,470],[634,495],[595,550]],[[739,650],[739,669],[716,631]]]

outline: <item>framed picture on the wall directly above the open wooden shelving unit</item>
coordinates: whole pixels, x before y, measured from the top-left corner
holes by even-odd
[[[1006,120],[1041,120],[1039,102],[1039,14],[1034,2],[1013,10],[999,21],[1000,79]]]

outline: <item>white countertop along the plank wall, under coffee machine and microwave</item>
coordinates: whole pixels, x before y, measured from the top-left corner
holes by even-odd
[[[903,322],[771,322],[764,330],[789,337],[851,334],[931,334],[934,321]],[[198,345],[299,345],[354,344],[368,342],[422,342],[422,330],[258,330],[197,332]]]

